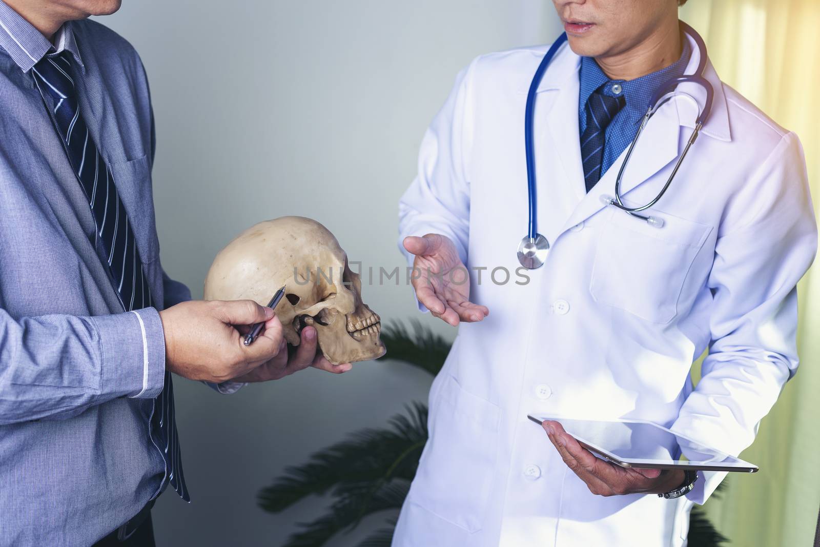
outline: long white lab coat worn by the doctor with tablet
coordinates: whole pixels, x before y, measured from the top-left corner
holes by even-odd
[[[563,45],[535,107],[538,228],[552,248],[516,283],[524,105],[545,49],[478,57],[458,75],[399,205],[399,240],[447,235],[467,267],[487,268],[471,271],[471,299],[490,316],[458,327],[430,390],[430,441],[397,547],[685,545],[691,505],[723,474],[677,500],[592,495],[527,413],[640,418],[739,454],[797,367],[795,285],[817,248],[802,148],[711,64],[712,114],[653,209],[665,221],[655,228],[601,203],[624,154],[586,194],[580,57]],[[678,89],[703,103],[701,88]],[[650,121],[624,176],[627,203],[658,194],[695,114],[676,98]],[[490,279],[497,267],[506,284],[503,270]],[[690,365],[707,347],[693,390]]]

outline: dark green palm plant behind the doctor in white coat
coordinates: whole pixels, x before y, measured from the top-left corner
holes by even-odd
[[[389,349],[390,360],[421,368],[430,377],[441,370],[450,349],[447,340],[417,321],[412,329],[401,323],[385,327],[381,340]],[[356,431],[312,454],[307,463],[288,467],[283,476],[259,491],[258,503],[269,513],[282,513],[309,496],[329,495],[332,499],[326,513],[300,523],[282,547],[322,547],[331,538],[356,528],[365,517],[377,514],[383,515],[383,525],[356,547],[389,547],[426,441],[427,407],[411,403],[385,427]],[[726,542],[703,508],[695,506],[689,547],[721,547]]]

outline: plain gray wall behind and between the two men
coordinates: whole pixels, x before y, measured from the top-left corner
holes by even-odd
[[[282,215],[321,221],[351,260],[403,267],[396,203],[454,76],[482,52],[558,34],[545,0],[125,0],[101,21],[147,67],[162,262],[194,298],[222,246]],[[385,321],[421,317],[406,286],[363,293]],[[162,495],[158,545],[281,545],[324,503],[272,516],[257,508],[257,490],[349,431],[426,400],[429,382],[391,362],[343,376],[309,370],[232,396],[176,379],[193,503]]]

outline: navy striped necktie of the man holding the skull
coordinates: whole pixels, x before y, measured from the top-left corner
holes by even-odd
[[[68,159],[83,187],[85,197],[88,198],[97,223],[97,236],[107,258],[108,271],[123,307],[126,311],[131,311],[150,306],[151,288],[144,276],[128,215],[117,193],[111,171],[80,115],[74,84],[76,72],[72,68],[71,53],[63,51],[43,57],[34,65],[32,74],[34,83],[43,93],[43,99],[51,98],[51,104],[45,101],[46,108],[53,116]],[[171,486],[182,499],[190,501],[182,475],[171,373],[167,371],[162,392],[154,400],[151,438],[165,459],[166,476]]]

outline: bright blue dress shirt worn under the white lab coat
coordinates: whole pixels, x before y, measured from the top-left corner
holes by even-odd
[[[635,131],[638,130],[640,119],[646,114],[649,101],[655,91],[667,80],[672,80],[677,76],[684,75],[686,65],[689,64],[691,48],[688,40],[683,40],[683,52],[681,58],[672,65],[659,71],[652,72],[635,80],[610,80],[609,76],[601,70],[598,63],[592,57],[581,57],[581,68],[579,79],[581,80],[581,90],[578,97],[578,127],[579,134],[584,134],[586,129],[586,101],[595,89],[604,87],[604,95],[617,97],[622,95],[626,98],[626,106],[618,112],[613,121],[609,122],[604,140],[604,161],[601,163],[601,176],[607,172],[610,166],[617,160],[617,157],[626,149],[635,138]]]

